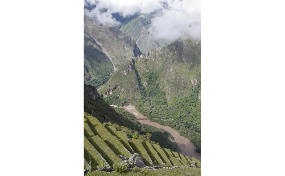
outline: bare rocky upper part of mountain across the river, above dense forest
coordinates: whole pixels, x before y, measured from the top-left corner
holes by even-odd
[[[109,96],[111,94],[108,92],[112,91],[120,98],[138,98],[141,94],[138,87],[147,89],[149,72],[155,72],[156,83],[165,92],[168,103],[176,97],[188,96],[190,90],[201,82],[201,43],[192,40],[175,41],[131,59],[117,74],[111,76],[102,88],[102,95]],[[125,83],[122,84],[119,80],[125,80]],[[120,91],[114,91],[118,85]],[[132,93],[125,92],[126,90],[131,90]]]

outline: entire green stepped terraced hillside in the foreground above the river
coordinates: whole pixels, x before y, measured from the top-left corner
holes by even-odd
[[[142,170],[141,168],[144,170],[159,170],[162,168],[189,167],[193,169],[193,173],[200,172],[201,174],[201,162],[196,158],[189,158],[175,151],[162,149],[153,141],[137,137],[128,139],[124,131],[116,130],[116,126],[116,124],[112,123],[102,124],[93,116],[84,116],[85,174],[89,169],[88,163],[90,163],[90,160],[91,168],[95,170],[92,175],[98,174],[96,170],[114,170],[114,167],[121,166],[122,163],[126,165],[126,171],[132,170],[133,172],[134,170]],[[131,160],[134,156],[139,157]],[[138,165],[136,162],[139,160],[138,158],[141,161],[141,165]],[[104,173],[102,172],[101,174]]]

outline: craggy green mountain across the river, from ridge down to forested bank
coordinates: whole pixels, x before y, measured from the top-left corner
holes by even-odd
[[[135,57],[132,65],[128,79],[122,71],[111,76],[102,88],[104,100],[133,104],[150,120],[178,130],[201,152],[201,43],[176,41]]]

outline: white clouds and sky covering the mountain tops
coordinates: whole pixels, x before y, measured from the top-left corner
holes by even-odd
[[[201,0],[84,0],[84,6],[94,5],[84,13],[102,25],[120,24],[113,13],[122,17],[155,14],[148,28],[155,39],[201,39]]]

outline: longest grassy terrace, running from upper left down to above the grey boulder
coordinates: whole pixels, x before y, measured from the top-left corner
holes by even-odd
[[[131,153],[123,146],[116,136],[113,136],[98,119],[92,116],[86,116],[87,123],[93,133],[98,135],[117,155],[131,156]]]

